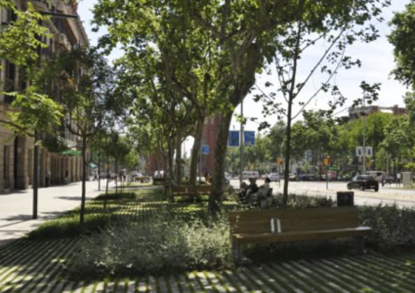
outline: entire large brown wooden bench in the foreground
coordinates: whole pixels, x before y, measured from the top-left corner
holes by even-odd
[[[242,260],[242,245],[247,243],[352,236],[358,252],[363,253],[364,236],[372,230],[358,225],[356,206],[230,212],[229,223],[233,256],[237,263]]]

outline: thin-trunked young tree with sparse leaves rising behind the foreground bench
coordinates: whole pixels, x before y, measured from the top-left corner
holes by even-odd
[[[294,1],[293,1],[294,2]],[[285,170],[284,170],[284,194],[283,206],[286,205],[288,198],[288,178],[289,164],[291,160],[291,123],[296,119],[305,107],[321,92],[331,89],[334,97],[329,102],[329,113],[333,112],[337,105],[343,105],[344,96],[340,89],[330,84],[340,67],[351,68],[360,66],[361,61],[354,60],[345,55],[345,49],[356,40],[370,42],[377,38],[377,29],[373,24],[367,24],[372,17],[379,20],[381,7],[388,5],[390,1],[383,3],[379,1],[329,1],[321,6],[314,1],[295,1],[293,7],[294,18],[287,22],[284,27],[284,35],[279,34],[275,37],[277,51],[272,59],[277,70],[277,81],[279,84],[277,91],[267,94],[261,88],[260,94],[256,95],[256,100],[263,100],[265,103],[265,114],[276,114],[277,118],[286,119],[286,140],[285,140]],[[367,24],[367,25],[365,25]],[[300,59],[304,56],[308,48],[313,47],[319,42],[325,42],[326,50],[321,57],[316,59],[314,66],[307,73],[305,78],[299,81],[298,69]],[[314,73],[319,70],[327,75],[321,86],[312,93],[311,96],[300,96],[307,82],[311,80]],[[265,86],[271,86],[267,82]],[[286,101],[286,107],[282,107],[280,100],[275,100],[277,96],[282,96]],[[302,98],[300,100],[300,98]],[[293,103],[297,102],[300,110],[293,113]]]

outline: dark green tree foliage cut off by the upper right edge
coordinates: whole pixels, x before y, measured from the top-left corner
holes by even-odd
[[[388,36],[389,42],[395,46],[393,54],[395,55],[396,67],[392,75],[407,87],[415,89],[415,2],[405,6],[406,10],[397,12],[389,25],[393,27],[391,34]]]

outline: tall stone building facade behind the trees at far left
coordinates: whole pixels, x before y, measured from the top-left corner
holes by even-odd
[[[66,4],[64,1],[30,1],[36,10],[47,13],[78,15],[77,4]],[[19,10],[26,9],[27,0],[15,0]],[[1,9],[1,8],[0,8]],[[0,22],[8,24],[15,20],[15,15],[6,9],[0,11]],[[48,58],[57,50],[71,50],[75,46],[89,45],[87,34],[79,17],[50,17],[43,23],[52,35],[43,43],[48,47],[41,49],[41,57]],[[7,60],[1,61],[0,73],[0,119],[6,120],[6,112],[10,110],[13,97],[1,94],[3,91],[20,91],[26,87],[19,68]],[[57,137],[68,149],[75,150],[78,137],[62,127]],[[66,153],[66,154],[65,154]],[[70,153],[71,155],[69,155]],[[75,154],[75,155],[74,155]],[[33,183],[34,140],[31,137],[16,135],[0,124],[0,193],[9,190],[26,189]],[[76,151],[52,152],[45,147],[39,151],[39,186],[64,184],[80,181],[82,160]]]

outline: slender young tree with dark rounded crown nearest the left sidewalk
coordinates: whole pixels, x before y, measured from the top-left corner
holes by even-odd
[[[43,72],[44,89],[56,88],[57,101],[63,108],[62,122],[68,131],[80,138],[77,146],[82,153],[82,197],[80,223],[85,221],[85,182],[87,180],[87,149],[96,134],[112,121],[114,73],[94,48],[79,47],[61,51]],[[112,117],[112,118],[110,118]]]

